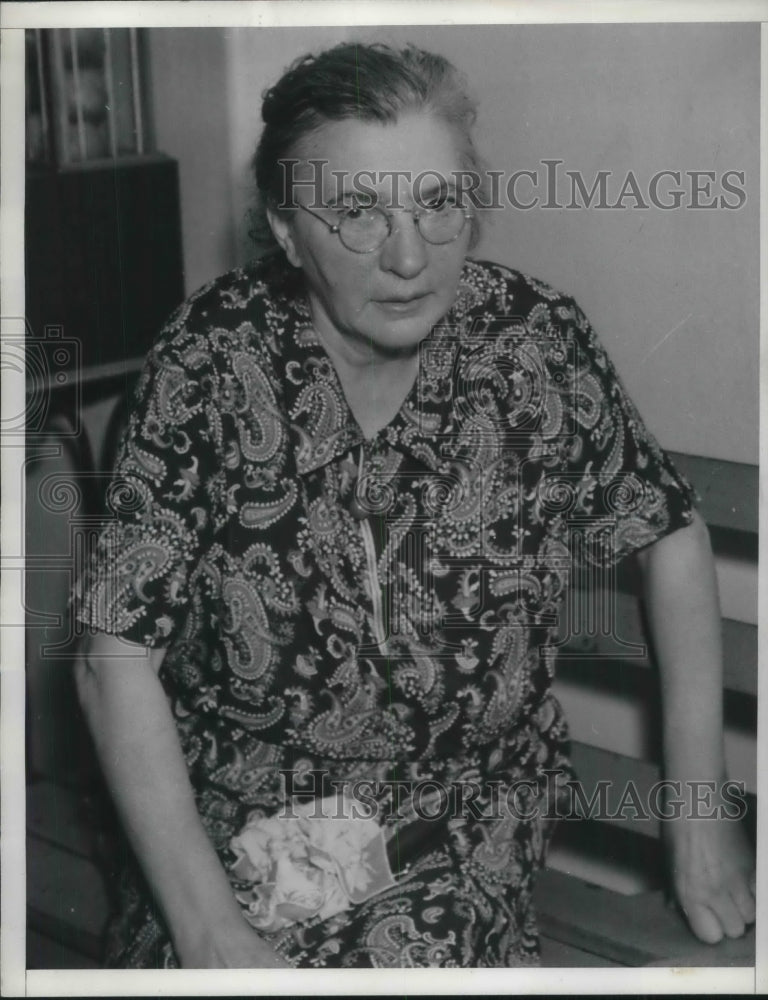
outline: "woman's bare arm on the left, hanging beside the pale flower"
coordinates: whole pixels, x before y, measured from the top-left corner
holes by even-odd
[[[100,632],[75,666],[124,829],[183,967],[289,968],[243,918],[205,832],[158,678],[163,655]]]

